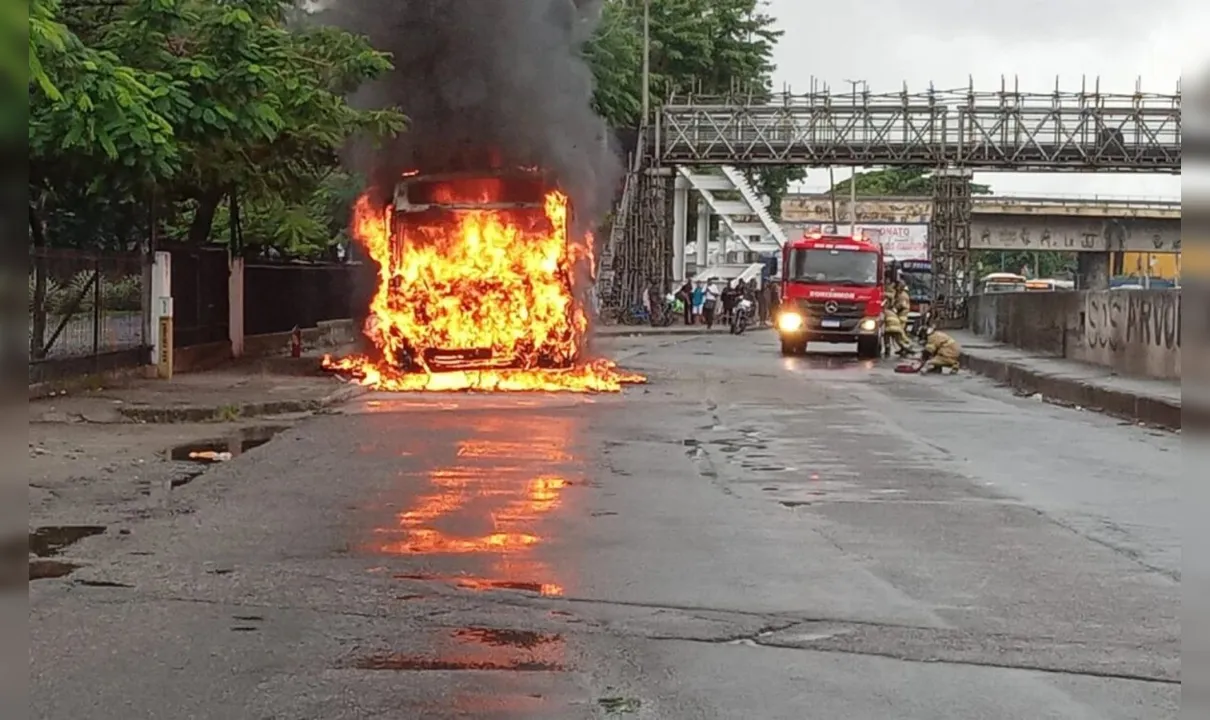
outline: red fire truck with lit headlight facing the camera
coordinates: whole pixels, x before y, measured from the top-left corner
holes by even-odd
[[[855,342],[863,358],[882,350],[882,248],[860,238],[806,235],[782,248],[776,318],[782,355],[807,342]]]

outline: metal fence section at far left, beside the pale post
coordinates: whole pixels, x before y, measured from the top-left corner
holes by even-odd
[[[30,381],[143,362],[144,277],[137,253],[30,248]]]

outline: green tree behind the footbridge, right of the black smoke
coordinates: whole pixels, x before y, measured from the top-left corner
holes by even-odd
[[[652,111],[678,94],[767,97],[773,48],[782,38],[764,0],[651,0]],[[594,104],[613,127],[641,117],[643,0],[606,0],[597,35],[584,48],[597,80]],[[768,196],[774,217],[797,167],[755,169],[749,179]]]

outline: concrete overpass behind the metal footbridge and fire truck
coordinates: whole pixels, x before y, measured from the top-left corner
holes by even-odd
[[[927,225],[930,198],[870,197],[857,201],[858,225]],[[786,224],[831,224],[828,195],[788,195]],[[836,198],[843,227],[853,214],[848,198]],[[972,207],[970,248],[1079,253],[1180,253],[1181,202],[1158,198],[976,196]]]

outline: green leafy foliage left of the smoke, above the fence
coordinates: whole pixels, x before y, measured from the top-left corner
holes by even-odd
[[[221,240],[215,218],[234,196],[250,246],[310,254],[330,244],[318,229],[332,225],[325,183],[340,150],[399,132],[404,119],[346,100],[390,69],[385,54],[292,22],[294,10],[288,0],[34,0],[30,191],[56,242],[128,244],[145,234],[154,189],[169,240]]]

